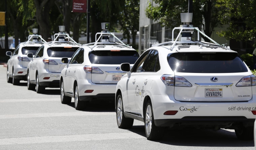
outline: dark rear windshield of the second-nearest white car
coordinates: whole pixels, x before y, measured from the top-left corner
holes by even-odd
[[[135,50],[97,50],[89,53],[89,59],[92,64],[134,64],[139,58],[139,54]]]

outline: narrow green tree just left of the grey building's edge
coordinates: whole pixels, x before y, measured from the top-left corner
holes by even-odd
[[[139,0],[125,0],[124,10],[118,16],[119,24],[122,26],[123,38],[130,44],[132,35],[132,46],[136,48],[136,35],[139,31]]]

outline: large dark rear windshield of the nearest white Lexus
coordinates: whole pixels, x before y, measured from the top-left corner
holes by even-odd
[[[237,73],[248,72],[235,52],[179,52],[169,54],[169,66],[175,72]]]

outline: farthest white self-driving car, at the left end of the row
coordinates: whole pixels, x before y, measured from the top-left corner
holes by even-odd
[[[46,41],[38,35],[38,29],[32,29],[33,34],[28,36],[28,41],[20,43],[13,51],[7,51],[10,56],[7,62],[7,82],[18,85],[20,80],[27,81],[27,66],[31,59],[27,53],[36,53],[37,49]]]

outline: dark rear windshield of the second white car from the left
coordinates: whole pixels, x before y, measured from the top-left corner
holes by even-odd
[[[50,47],[47,49],[49,57],[71,58],[79,47]]]

